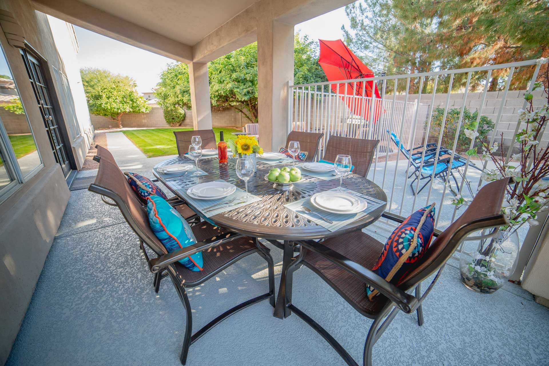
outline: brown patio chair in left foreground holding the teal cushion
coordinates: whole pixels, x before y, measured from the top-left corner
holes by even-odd
[[[223,233],[219,228],[209,223],[201,222],[192,227],[193,233],[197,237],[197,240],[199,240],[198,243],[169,253],[150,229],[147,211],[141,205],[141,201],[133,194],[130,185],[126,183],[126,177],[115,164],[106,159],[101,161],[96,181],[89,186],[89,190],[108,196],[119,207],[127,223],[139,238],[139,243],[145,254],[150,272],[157,274],[164,269],[167,270],[187,314],[181,352],[181,363],[183,365],[187,362],[189,347],[222,320],[263,300],[269,299],[271,306],[275,306],[275,272],[273,260],[269,253],[270,250],[263,246],[259,240],[245,237],[242,234]],[[144,249],[144,245],[153,251],[157,257],[149,257],[147,251]],[[200,251],[204,258],[202,271],[190,271],[178,262],[178,260]],[[234,306],[192,334],[191,303],[189,302],[186,288],[192,288],[204,283],[217,273],[254,253],[259,254],[267,262],[268,292]],[[212,300],[212,302],[214,301]],[[227,346],[230,346],[230,344],[227,344]]]

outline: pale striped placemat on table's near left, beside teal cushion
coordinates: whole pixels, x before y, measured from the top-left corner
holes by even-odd
[[[217,179],[216,182],[225,181],[223,181],[223,179]],[[247,198],[246,192],[238,187],[233,194],[216,200],[199,200],[192,198],[187,194],[187,189],[177,189],[177,193],[181,194],[183,198],[189,202],[189,204],[199,210],[205,217],[212,217],[218,213],[237,210],[239,207],[249,205],[256,201],[261,201],[261,198],[254,196],[253,194],[249,194]],[[229,201],[232,202],[228,204]],[[219,205],[212,207],[216,204]]]

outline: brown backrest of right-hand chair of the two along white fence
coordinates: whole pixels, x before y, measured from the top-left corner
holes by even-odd
[[[335,161],[339,154],[351,156],[352,165],[355,166],[355,173],[366,177],[372,159],[374,150],[379,140],[365,140],[361,138],[332,136],[326,145],[323,160]]]

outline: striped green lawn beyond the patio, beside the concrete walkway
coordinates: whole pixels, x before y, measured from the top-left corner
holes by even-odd
[[[177,146],[173,131],[192,131],[192,128],[147,128],[122,131],[147,157],[175,155]],[[224,140],[236,139],[232,132],[240,131],[234,128],[214,128],[215,138],[219,142],[219,132],[223,131]]]

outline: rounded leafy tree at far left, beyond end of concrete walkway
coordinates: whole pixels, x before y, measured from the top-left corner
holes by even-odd
[[[86,94],[89,112],[110,117],[122,128],[121,117],[125,113],[146,113],[150,111],[147,101],[133,88],[115,81]]]

